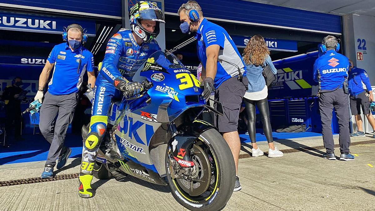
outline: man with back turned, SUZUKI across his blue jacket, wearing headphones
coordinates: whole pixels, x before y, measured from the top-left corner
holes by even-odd
[[[354,160],[354,156],[349,153],[349,102],[346,90],[349,60],[344,55],[336,53],[340,45],[334,36],[326,36],[322,48],[326,53],[315,61],[313,78],[319,82],[319,110],[323,126],[323,142],[327,150],[323,157],[336,160],[331,128],[332,109],[335,108],[339,119],[340,160]]]

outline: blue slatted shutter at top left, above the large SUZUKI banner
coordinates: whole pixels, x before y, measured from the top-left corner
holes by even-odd
[[[121,17],[121,0],[0,0],[0,3]]]

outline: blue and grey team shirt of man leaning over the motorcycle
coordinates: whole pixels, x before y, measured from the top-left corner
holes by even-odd
[[[210,45],[220,46],[218,59],[233,63],[229,64],[224,61],[217,62],[217,71],[214,78],[215,89],[217,89],[217,87],[219,87],[224,81],[239,74],[236,66],[240,68],[240,71],[244,76],[246,75],[245,63],[242,60],[236,44],[234,44],[232,38],[223,27],[203,18],[202,23],[199,25],[198,31],[195,34],[195,38],[198,41],[196,45],[198,58],[205,69],[207,62],[206,48]]]

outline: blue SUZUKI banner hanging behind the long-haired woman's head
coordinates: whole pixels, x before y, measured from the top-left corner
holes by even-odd
[[[250,40],[250,36],[239,36],[231,35],[234,44],[239,48],[245,48]],[[264,38],[266,41],[267,47],[270,50],[274,51],[288,51],[288,52],[297,52],[297,41],[290,40],[281,40],[281,39],[269,39]]]

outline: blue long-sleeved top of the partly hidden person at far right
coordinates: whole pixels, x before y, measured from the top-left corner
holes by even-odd
[[[365,84],[369,92],[372,90],[367,72],[364,69],[354,67],[349,71],[348,88],[350,95],[356,96],[365,91],[362,83]]]

